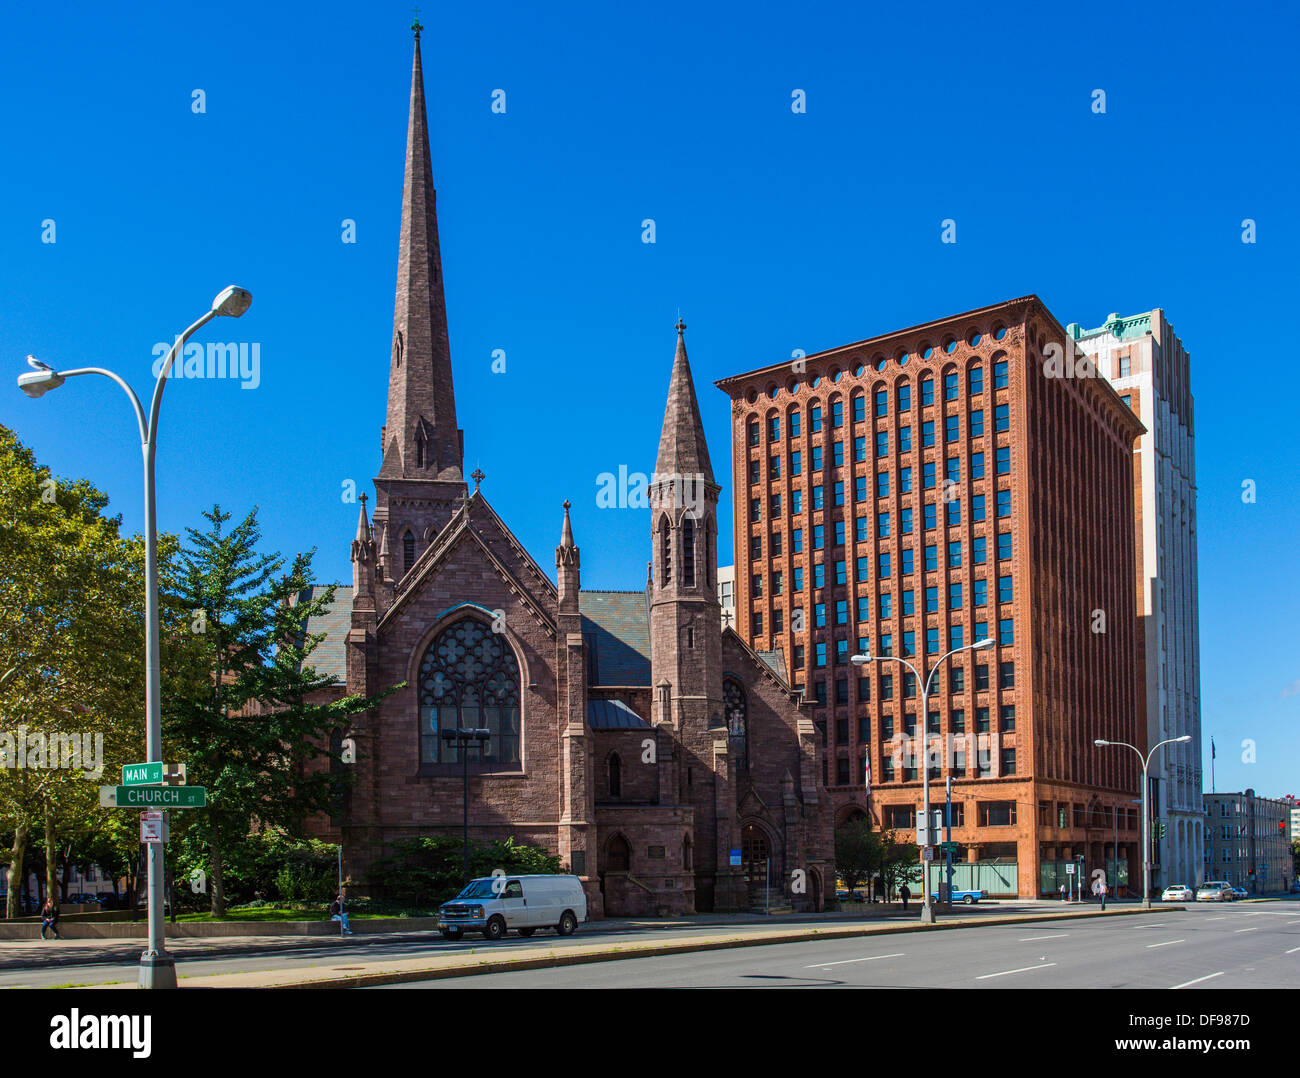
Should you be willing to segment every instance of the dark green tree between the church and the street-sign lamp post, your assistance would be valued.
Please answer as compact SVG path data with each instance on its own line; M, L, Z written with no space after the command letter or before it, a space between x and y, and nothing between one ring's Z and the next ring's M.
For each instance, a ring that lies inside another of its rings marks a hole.
M182 814L182 843L202 847L221 915L233 850L255 827L300 835L308 817L333 806L341 780L329 767L338 758L332 735L378 697L330 700L333 680L311 666L324 637L307 633L307 620L334 602L333 586L311 592L315 551L286 571L278 554L259 553L256 507L233 528L220 506L203 515L205 531L186 529L177 585L202 676L172 701L164 735L190 782L208 788L208 808Z

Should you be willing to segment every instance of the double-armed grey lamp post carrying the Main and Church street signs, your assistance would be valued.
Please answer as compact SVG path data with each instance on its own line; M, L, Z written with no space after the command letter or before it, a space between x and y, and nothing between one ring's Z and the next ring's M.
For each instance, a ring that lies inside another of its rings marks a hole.
M161 705L161 666L159 661L159 567L157 567L157 507L155 502L153 486L153 456L157 450L159 408L162 406L162 388L166 385L168 375L172 373L172 364L185 347L185 342L198 333L212 319L224 316L238 319L248 304L252 295L244 289L230 285L222 289L217 298L212 300L212 307L195 321L188 329L176 338L176 343L168 352L153 384L153 397L150 402L150 412L146 417L140 398L121 377L103 367L78 367L73 371L55 371L35 356L27 356L27 363L34 369L18 376L18 388L31 398L42 397L52 389L61 386L68 378L78 375L103 375L117 382L131 401L135 410L135 421L140 433L140 453L144 458L144 722L146 722L146 759L150 763L162 759L162 705ZM142 988L174 988L176 987L176 960L166 953L162 926L162 845L161 843L148 844L148 912L150 912L150 941L144 953L140 954Z

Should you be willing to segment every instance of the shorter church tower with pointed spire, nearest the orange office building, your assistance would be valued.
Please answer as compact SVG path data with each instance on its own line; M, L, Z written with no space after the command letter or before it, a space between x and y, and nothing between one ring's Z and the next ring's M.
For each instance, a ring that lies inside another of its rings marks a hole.
M677 354L659 455L650 481L651 720L668 726L681 804L694 808L696 906L729 908L719 886L728 876L727 726L723 719L722 610L718 603L718 495L686 359L686 326L677 321ZM660 739L663 743L663 739ZM719 782L719 766L722 782ZM720 830L719 830L720 828Z

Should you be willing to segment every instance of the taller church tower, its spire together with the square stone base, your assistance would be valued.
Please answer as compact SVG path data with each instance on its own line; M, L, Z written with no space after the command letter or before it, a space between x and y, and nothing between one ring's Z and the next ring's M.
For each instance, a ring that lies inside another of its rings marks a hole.
M412 29L415 61L389 356L389 408L380 434L384 462L374 480L374 529L385 589L406 575L467 494L420 66L422 27L416 22Z

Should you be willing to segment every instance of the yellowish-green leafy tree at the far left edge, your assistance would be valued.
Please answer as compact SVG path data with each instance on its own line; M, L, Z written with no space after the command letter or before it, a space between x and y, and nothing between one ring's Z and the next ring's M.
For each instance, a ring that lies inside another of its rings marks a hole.
M27 727L25 740L46 745L0 770L0 821L12 834L10 879L25 878L39 835L49 853L44 891L56 900L68 849L58 835L100 811L101 775L94 759L68 766L66 743L49 753L49 735L101 745L98 762L107 767L134 757L144 732L143 541L124 538L107 506L94 485L56 479L0 427L0 714L8 736ZM162 558L174 546L160 537ZM17 745L3 749L17 754ZM20 893L21 886L9 889L9 917Z

